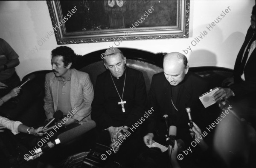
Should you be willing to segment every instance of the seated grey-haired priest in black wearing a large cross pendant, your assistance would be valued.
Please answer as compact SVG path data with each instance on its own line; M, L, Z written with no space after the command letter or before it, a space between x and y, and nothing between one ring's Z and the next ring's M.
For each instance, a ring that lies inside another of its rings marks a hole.
M122 146L116 154L116 157L119 156L116 161L121 163L123 159L128 162L129 157L132 157L132 154L128 155L129 151L135 148L134 144L139 144L137 141L141 141L135 136L136 131L132 132L129 127L144 114L145 81L142 72L125 66L126 58L118 48L109 48L105 54L104 65L107 70L97 77L91 117L99 130L99 139L105 145L113 146L121 130L131 133L120 144Z

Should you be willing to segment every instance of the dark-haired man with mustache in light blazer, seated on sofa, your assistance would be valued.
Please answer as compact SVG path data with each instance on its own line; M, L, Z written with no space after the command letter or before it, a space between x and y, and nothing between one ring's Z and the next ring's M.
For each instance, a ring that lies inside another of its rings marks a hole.
M55 111L65 116L63 124L83 124L91 120L93 85L87 73L72 68L77 55L67 46L52 50L52 72L45 77L44 110L48 120Z

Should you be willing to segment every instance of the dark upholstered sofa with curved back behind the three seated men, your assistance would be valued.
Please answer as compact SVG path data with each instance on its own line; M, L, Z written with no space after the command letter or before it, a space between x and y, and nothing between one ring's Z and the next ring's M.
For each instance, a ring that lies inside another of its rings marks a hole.
M125 57L127 58L127 66L140 70L143 72L143 76L145 78L146 90L147 93L150 88L151 79L153 74L159 73L163 71L163 53L151 53L147 51L142 51L138 49L132 48L119 48ZM100 57L102 53L105 52L104 50L95 51L89 54L86 54L80 57L75 64L75 68L87 72L90 75L90 79L95 85L97 75L101 74L106 70L105 66L103 65L103 60ZM49 63L50 64L50 63ZM189 68L190 71L195 72L199 76L205 78L210 83L210 88L214 88L215 86L220 86L222 80L226 77L232 76L232 70L227 68L219 68L219 67L192 67ZM35 80L33 83L37 84L41 88L41 94L38 97L39 99L39 106L37 113L44 114L43 109L43 97L44 97L44 79L45 74L50 72L50 70L45 71L35 71L31 74L35 74ZM23 77L23 80L30 74L27 74Z

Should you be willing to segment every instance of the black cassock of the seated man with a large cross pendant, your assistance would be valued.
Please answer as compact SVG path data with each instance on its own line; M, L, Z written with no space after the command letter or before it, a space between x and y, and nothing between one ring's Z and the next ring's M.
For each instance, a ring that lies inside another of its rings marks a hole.
M114 77L110 71L99 74L96 80L95 94L92 103L92 120L100 131L98 142L105 145L111 144L107 128L134 125L145 111L146 89L142 72L125 67L121 77ZM132 157L136 153L142 137L140 128L131 133L116 154L119 159ZM113 151L112 151L113 152ZM131 154L129 154L131 153ZM113 155L113 154L111 154ZM122 162L122 161L120 161Z

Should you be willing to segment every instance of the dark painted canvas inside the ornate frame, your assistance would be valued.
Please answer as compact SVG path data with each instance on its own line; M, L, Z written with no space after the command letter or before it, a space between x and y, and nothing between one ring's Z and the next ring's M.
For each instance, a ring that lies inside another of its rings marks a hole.
M60 1L63 16L76 6L65 23L67 32L99 31L177 25L177 0L82 0ZM149 9L151 13L148 12Z

